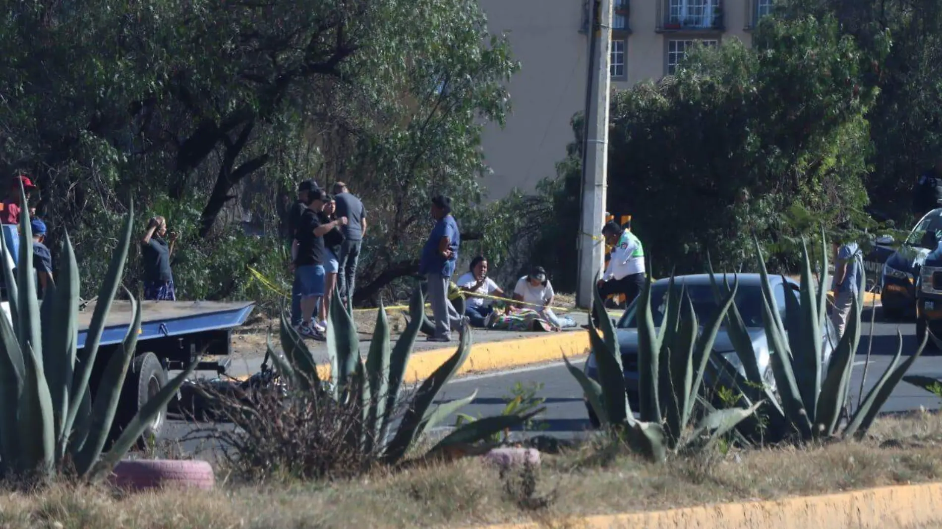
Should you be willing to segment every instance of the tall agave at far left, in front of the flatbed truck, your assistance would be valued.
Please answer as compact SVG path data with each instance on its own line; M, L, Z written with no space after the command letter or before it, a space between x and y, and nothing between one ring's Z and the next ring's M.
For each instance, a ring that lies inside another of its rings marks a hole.
M22 195L22 193L21 193ZM22 196L23 211L28 211ZM33 235L29 216L20 217L19 263L14 277L0 236L0 262L8 292L8 313L0 313L0 478L44 479L73 472L93 479L108 473L134 445L177 392L187 372L147 402L103 455L118 408L124 376L134 356L140 307L131 298L132 319L122 345L107 359L95 397L89 378L108 310L121 284L131 242L133 208L122 228L91 317L85 347L77 350L78 266L68 234L59 282L49 284L40 304L33 280ZM130 293L128 293L130 295ZM130 296L129 296L130 297ZM103 359L104 360L104 359Z

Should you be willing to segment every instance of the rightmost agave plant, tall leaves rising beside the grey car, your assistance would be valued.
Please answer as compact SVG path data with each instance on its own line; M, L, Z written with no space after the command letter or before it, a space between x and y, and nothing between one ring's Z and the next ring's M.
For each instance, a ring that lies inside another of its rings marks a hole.
M720 355L712 355L707 371L717 377L720 384L739 393L740 405L753 406L753 403L760 400L768 404L762 408L762 413L769 419L764 435L767 438L771 436L772 441L796 436L801 441L809 441L864 435L890 393L922 354L925 340L919 345L916 353L901 363L902 336L899 336L899 348L893 361L877 384L870 389L861 406L854 410L848 424L841 429L841 414L849 408L850 402L853 356L860 343L861 297L853 299L847 329L837 342L831 361L825 368L821 361L821 347L827 336L828 325L826 303L829 277L826 241L823 242L821 251L822 272L817 286L811 271L808 249L803 242L799 299L786 296L784 322L773 305L769 273L758 241L755 241L755 248L762 277L763 320L769 338L771 370L777 395L773 395L768 386L763 384L763 378L755 365L755 352L748 333L736 313L731 313L726 323L731 342L743 365L743 372L739 373ZM722 288L717 287L717 296L721 294ZM743 433L755 435L755 432Z

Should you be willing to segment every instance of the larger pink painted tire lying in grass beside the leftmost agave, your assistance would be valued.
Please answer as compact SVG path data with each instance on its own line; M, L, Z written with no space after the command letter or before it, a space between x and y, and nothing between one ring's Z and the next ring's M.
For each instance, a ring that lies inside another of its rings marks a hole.
M110 482L121 489L168 488L212 489L216 484L213 467L197 459L124 459L118 463Z

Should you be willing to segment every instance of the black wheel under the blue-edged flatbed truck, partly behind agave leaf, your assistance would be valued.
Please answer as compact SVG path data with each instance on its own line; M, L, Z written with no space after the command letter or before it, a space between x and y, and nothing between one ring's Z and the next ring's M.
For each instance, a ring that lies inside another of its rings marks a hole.
M121 401L116 414L116 426L121 431L138 414L138 411L157 392L167 385L167 371L157 360L154 353L141 353L131 361L131 369L124 377ZM154 421L144 429L138 441L139 447L146 447L153 438L160 439L160 432L167 422L167 409L161 409Z

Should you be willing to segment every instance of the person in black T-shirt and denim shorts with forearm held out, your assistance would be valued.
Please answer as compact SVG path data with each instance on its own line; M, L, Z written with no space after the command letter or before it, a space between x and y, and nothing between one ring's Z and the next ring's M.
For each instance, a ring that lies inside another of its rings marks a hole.
M326 196L323 191L308 191L307 208L301 214L295 231L297 253L295 257L295 281L300 287L301 323L298 332L302 336L323 339L327 319L327 304L321 303L319 320L312 321L317 301L324 296L324 234L338 226L347 224L347 217L321 223L319 214L324 209Z

